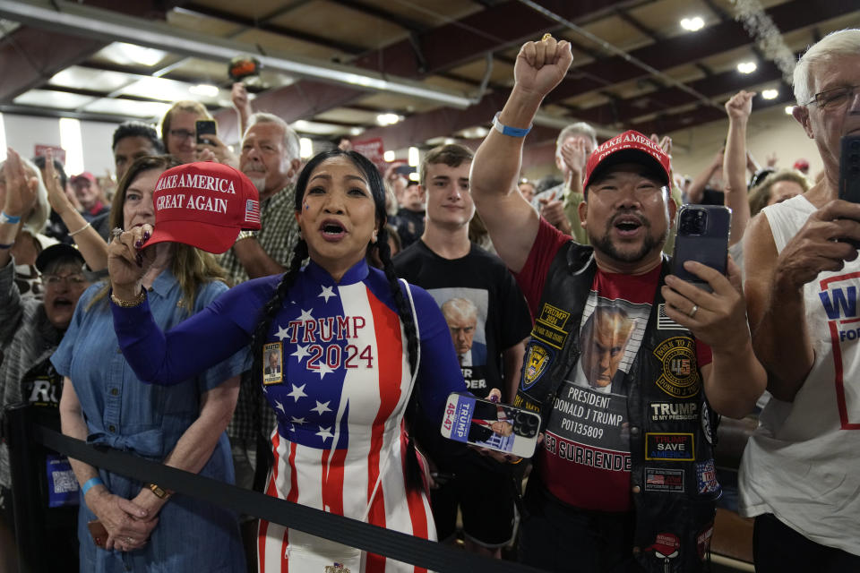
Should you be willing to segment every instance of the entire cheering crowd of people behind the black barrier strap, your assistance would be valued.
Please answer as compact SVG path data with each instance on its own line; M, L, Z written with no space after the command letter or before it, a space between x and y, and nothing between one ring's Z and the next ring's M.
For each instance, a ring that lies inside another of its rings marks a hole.
M737 479L756 569L860 570L860 206L839 200L860 30L796 64L814 179L805 159L756 163L742 90L700 174L673 170L668 137L601 143L576 123L560 177L524 180L530 126L571 63L566 41L525 43L477 151L426 151L417 182L348 140L303 162L239 83L238 153L177 102L160 134L117 127L112 193L9 150L0 406L469 552L606 573L704 570L720 418L757 414ZM732 212L726 273L684 263L708 288L672 270L685 204ZM541 415L534 458L443 438L454 392ZM47 449L30 459L52 570L417 570ZM0 445L10 570L12 487Z

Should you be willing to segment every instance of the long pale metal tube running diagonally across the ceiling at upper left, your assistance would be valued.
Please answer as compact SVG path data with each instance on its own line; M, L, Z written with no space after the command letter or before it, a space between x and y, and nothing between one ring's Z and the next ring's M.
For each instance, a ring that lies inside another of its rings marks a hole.
M138 46L169 46L171 53L180 56L228 62L236 54L254 54L260 64L270 70L426 99L460 109L475 103L460 91L427 86L421 81L383 75L370 70L358 73L355 66L296 56L287 52L279 53L276 50L270 50L263 55L258 47L248 42L182 30L167 23L146 21L76 2L54 0L51 4L41 5L8 0L0 3L0 16L42 30L60 31L82 38L117 42L134 38Z

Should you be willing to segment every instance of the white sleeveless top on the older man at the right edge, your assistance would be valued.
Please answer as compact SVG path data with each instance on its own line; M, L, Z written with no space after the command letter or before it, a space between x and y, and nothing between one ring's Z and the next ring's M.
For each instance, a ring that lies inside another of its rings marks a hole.
M777 251L815 207L766 208ZM860 555L860 261L804 286L815 362L793 402L771 398L740 468L740 511L773 513L816 543ZM778 310L778 309L777 309Z

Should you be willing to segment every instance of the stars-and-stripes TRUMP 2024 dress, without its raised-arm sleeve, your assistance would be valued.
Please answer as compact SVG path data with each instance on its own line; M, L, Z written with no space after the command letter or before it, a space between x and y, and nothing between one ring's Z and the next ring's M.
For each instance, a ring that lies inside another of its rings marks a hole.
M441 421L447 395L465 388L451 336L425 291L401 287L417 317L417 386ZM383 273L362 261L336 284L312 262L289 298L263 350L264 359L280 355L283 372L263 376L263 392L278 416L266 492L434 539L426 495L404 478L403 415L413 376ZM335 563L352 573L424 570L266 521L257 552L261 573L320 573Z

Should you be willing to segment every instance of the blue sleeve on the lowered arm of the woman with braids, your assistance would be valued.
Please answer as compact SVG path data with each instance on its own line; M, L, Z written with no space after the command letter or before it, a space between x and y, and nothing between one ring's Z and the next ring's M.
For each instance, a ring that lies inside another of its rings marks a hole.
M439 306L426 290L409 285L415 302L418 335L421 340L421 363L417 386L421 406L434 423L442 423L445 403L452 392L465 392L466 382L460 371L451 331Z

